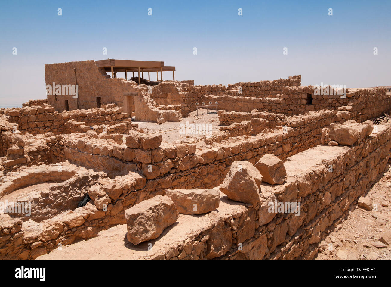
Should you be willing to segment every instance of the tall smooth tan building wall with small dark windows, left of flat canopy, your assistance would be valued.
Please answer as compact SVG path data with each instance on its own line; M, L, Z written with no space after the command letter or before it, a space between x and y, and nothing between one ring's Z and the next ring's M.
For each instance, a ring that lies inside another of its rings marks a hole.
M76 69L76 73L74 71ZM106 73L95 64L95 61L79 61L45 65L46 85L79 85L79 97L48 95L48 103L62 112L66 109L65 100L68 100L70 110L88 109L97 107L97 97L101 104L115 103L127 110L129 103L124 93L139 92L140 88L133 81L122 78L106 78ZM130 101L133 103L133 101Z

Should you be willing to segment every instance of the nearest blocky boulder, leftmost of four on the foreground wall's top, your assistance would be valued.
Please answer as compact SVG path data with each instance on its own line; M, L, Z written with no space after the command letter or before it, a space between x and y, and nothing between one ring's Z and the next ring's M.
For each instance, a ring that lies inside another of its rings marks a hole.
M144 200L125 211L127 240L137 245L158 238L178 217L178 210L170 197L156 195Z

